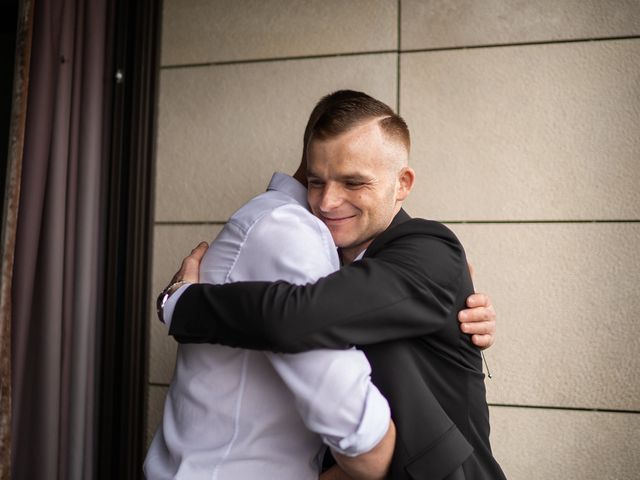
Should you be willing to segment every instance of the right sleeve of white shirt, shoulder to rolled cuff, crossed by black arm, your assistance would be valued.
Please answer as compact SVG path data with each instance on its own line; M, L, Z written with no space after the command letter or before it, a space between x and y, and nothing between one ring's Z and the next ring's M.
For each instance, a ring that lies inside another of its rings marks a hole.
M324 225L302 207L283 206L251 227L230 279L313 282L338 267L334 249ZM385 435L389 405L371 383L371 368L361 351L265 352L265 356L293 394L306 427L332 449L359 455Z

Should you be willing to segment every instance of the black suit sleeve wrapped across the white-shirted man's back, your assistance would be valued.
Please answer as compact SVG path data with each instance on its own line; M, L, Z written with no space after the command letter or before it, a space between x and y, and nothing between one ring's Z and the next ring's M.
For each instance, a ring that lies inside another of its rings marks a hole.
M411 220L372 256L314 284L196 284L176 305L170 334L183 343L300 352L419 337L450 328L470 285L462 246L446 227ZM457 325L455 325L457 327Z

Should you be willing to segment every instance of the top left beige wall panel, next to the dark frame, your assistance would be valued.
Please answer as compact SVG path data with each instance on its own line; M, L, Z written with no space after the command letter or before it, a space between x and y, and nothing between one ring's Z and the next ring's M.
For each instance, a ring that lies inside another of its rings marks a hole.
M162 64L395 50L389 0L166 0Z

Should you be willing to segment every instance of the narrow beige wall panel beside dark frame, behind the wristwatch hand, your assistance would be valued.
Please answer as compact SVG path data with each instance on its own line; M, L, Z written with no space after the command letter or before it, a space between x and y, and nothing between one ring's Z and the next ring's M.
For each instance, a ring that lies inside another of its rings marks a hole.
M220 225L156 225L153 246L152 316L149 321L151 347L149 382L168 384L173 376L177 343L155 314L156 295L180 268L182 259L201 241L211 243Z

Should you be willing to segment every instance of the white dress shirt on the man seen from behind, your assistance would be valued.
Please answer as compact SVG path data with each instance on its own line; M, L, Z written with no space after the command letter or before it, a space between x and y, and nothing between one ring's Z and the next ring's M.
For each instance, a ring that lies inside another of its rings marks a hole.
M304 284L339 268L306 189L274 174L207 251L200 279ZM170 319L182 287L165 305ZM303 320L301 320L303 321ZM387 401L358 350L285 355L209 344L178 347L162 424L145 461L151 479L317 479L322 442L355 456L387 431Z

